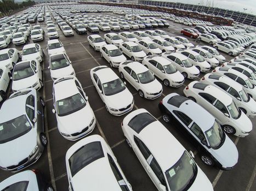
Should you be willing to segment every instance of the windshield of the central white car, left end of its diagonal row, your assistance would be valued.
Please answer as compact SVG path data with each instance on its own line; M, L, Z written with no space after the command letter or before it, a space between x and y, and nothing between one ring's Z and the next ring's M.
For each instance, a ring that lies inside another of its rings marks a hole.
M118 78L116 80L103 83L103 89L105 96L112 96L113 94L122 92L126 89L126 86L124 86L123 82Z

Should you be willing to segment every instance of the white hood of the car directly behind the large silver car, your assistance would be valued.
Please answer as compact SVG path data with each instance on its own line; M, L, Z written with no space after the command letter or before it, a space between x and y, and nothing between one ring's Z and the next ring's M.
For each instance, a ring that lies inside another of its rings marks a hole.
M28 87L31 87L37 81L38 80L37 80L36 74L21 80L13 80L12 89L13 91L18 91L20 89L28 88Z

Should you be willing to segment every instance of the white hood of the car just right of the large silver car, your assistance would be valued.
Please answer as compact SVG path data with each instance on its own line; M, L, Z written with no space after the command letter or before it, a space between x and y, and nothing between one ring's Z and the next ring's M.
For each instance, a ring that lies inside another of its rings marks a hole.
M93 117L93 111L88 103L84 108L73 112L73 114L62 117L56 115L58 129L60 132L65 134L81 132L84 128L89 126Z

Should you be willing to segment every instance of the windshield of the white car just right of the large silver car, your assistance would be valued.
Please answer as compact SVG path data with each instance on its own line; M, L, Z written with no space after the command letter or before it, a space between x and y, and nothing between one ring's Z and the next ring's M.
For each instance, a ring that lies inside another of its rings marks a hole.
M84 106L86 106L86 102L82 98L81 94L77 93L71 97L59 100L56 105L58 115L66 116L84 108Z

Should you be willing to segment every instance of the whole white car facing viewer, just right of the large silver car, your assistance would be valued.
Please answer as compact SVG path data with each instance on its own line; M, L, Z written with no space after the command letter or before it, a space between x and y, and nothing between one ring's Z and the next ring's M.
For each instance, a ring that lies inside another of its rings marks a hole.
M96 118L75 76L65 75L54 80L53 103L57 127L65 139L75 141L93 131Z

